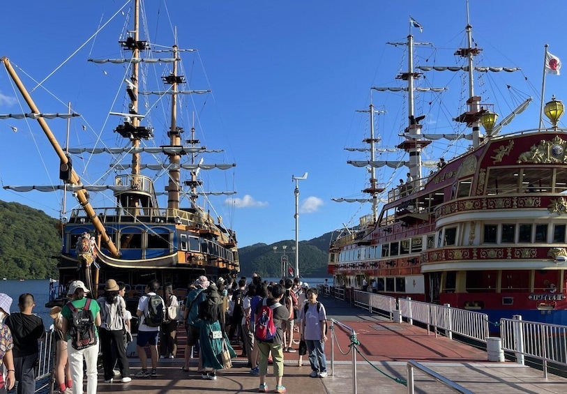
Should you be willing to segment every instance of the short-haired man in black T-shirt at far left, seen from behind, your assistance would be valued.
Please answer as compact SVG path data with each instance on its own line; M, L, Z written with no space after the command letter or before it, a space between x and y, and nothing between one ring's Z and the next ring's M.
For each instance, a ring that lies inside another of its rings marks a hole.
M36 362L38 361L38 340L45 337L43 320L33 314L36 306L33 295L24 293L18 298L15 312L6 317L6 326L12 331L14 343L13 358L17 394L33 394L36 391Z

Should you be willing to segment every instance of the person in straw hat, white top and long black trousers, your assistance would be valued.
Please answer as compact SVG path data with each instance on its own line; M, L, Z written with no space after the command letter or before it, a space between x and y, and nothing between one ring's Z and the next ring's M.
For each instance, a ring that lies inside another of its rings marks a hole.
M130 364L124 347L124 316L126 315L126 301L120 296L120 287L116 280L109 279L105 283L105 294L98 298L100 305L100 347L103 351L103 370L105 383L114 381L114 365L118 367L122 376L122 383L132 381L130 377Z

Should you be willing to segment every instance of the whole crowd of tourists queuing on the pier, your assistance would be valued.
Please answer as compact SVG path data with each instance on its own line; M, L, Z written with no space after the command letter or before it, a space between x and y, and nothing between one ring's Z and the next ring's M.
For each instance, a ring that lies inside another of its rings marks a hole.
M216 380L218 370L232 367L235 343L242 344L241 356L248 358L250 374L259 377L260 393L268 391L269 363L273 364L275 393L285 393L285 353L299 351L299 365L309 354L310 377L327 376L326 311L317 301L317 289L298 278L267 283L254 274L250 283L245 277L212 282L202 275L190 284L183 302L170 283L163 285L162 295L159 290L160 283L151 280L137 303L135 340L141 368L130 374L126 351L133 335L132 315L124 298L126 285L109 279L104 294L93 299L84 282L70 282L68 302L50 310L56 340L56 391L82 394L86 374L86 393L95 394L99 352L105 383L157 376L159 359L176 356L180 323L187 332L182 369L188 372L190 358L198 354L197 371L202 379ZM16 381L18 394L31 394L36 388L38 340L44 339L45 327L33 314L32 294L20 296L20 312L10 314L11 305L12 298L0 293L0 365L6 369L4 377L0 374L0 394L10 391ZM298 349L294 349L294 336L299 340Z

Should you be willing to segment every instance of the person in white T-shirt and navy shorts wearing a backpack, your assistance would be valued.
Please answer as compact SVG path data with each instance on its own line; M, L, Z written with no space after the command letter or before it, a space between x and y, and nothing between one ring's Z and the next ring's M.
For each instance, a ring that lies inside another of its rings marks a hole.
M145 289L146 294L140 297L138 301L136 316L139 317L139 327L138 327L138 336L136 340L136 350L138 353L139 363L142 369L136 372L136 374L134 375L135 377L158 376L158 336L160 334L160 324L158 324L158 326L154 326L156 322L152 322L151 323L152 325L149 326L148 324L150 323L150 321L146 321L146 319L149 319L149 308L151 308L150 305L151 298L158 296L157 291L159 289L160 289L160 282L158 282L155 279L150 280L150 282L146 285L146 289ZM161 303L162 303L162 317L163 317L163 310L165 309L163 299L161 300ZM148 372L148 368L146 364L147 356L146 356L146 349L144 349L146 344L149 344L150 347L151 372Z

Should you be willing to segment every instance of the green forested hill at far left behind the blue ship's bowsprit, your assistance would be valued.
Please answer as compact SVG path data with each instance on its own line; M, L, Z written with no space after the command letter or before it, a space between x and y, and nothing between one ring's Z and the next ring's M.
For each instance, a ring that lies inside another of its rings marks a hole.
M58 223L38 209L0 201L0 278L57 278Z

